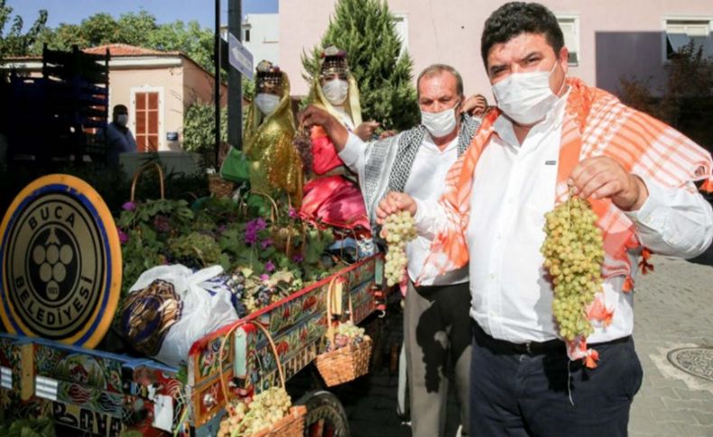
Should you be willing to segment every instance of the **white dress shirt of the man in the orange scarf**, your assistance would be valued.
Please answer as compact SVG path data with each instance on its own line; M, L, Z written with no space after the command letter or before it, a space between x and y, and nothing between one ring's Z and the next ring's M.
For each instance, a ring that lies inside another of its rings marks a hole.
M500 116L495 133L477 162L468 226L471 316L491 336L515 343L559 337L552 316L552 287L540 253L544 214L554 208L561 126L566 96L522 144L512 123ZM713 240L713 212L698 193L662 187L644 179L649 197L626 213L642 244L654 253L690 258ZM695 190L694 190L695 191ZM440 205L417 199L419 232L443 229ZM636 269L637 253L630 253ZM632 273L634 275L634 272ZM607 327L597 326L588 342L611 341L634 329L633 293L625 278L604 281L604 304L614 310ZM645 293L645 290L643 291Z

